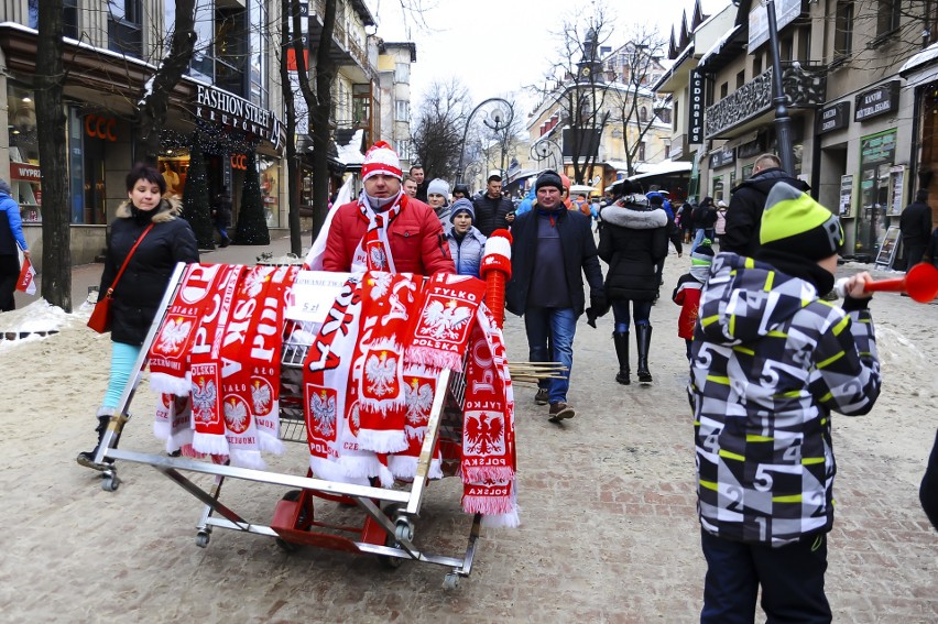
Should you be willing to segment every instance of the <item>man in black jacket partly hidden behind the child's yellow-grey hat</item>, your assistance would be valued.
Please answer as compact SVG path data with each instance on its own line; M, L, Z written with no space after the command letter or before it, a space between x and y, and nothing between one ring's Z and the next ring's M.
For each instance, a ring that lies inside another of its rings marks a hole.
M809 190L804 182L792 177L782 168L775 154L762 154L752 167L752 177L733 188L727 209L727 233L720 237L720 251L732 251L750 258L759 250L759 228L765 198L778 182L800 190Z

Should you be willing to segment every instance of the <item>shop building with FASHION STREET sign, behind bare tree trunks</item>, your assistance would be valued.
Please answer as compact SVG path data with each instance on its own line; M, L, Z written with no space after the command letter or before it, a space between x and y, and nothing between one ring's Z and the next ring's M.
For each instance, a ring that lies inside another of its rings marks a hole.
M124 176L141 160L137 143L137 105L154 75L173 32L173 0L66 0L66 79L68 177L73 263L94 262L106 245L107 225L127 199ZM378 45L373 17L362 0L337 0L331 56L334 81L331 130L361 136L363 150L382 138ZM167 191L182 196L189 150L198 138L206 154L209 193L230 190L236 215L247 155L254 151L268 226L287 227L284 129L285 98L280 50L285 41L281 3L270 0L198 0L197 42L189 68L173 88L159 166ZM302 37L309 64L321 43L325 0L302 4ZM7 177L21 205L25 234L35 261L42 258L42 163L33 92L37 0L0 1L0 176ZM288 36L288 35L287 35ZM290 54L292 55L292 50ZM292 63L291 63L292 61ZM309 125L299 97L296 58L287 56L286 97L299 103L296 141L301 154L299 205L312 197ZM315 76L315 67L309 68ZM315 89L315 81L313 81ZM343 163L330 154L341 183ZM334 189L330 189L334 190ZM236 217L237 218L237 217Z

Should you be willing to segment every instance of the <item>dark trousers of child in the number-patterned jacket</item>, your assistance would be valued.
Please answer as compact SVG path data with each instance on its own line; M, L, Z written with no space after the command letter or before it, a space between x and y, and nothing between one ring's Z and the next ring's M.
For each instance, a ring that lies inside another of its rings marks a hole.
M753 624L760 585L766 624L831 622L824 593L827 535L773 548L700 534L707 558L701 624Z

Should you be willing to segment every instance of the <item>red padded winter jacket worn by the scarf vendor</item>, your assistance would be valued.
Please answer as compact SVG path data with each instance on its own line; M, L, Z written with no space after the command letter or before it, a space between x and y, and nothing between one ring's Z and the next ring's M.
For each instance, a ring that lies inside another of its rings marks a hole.
M352 256L367 231L368 219L357 201L339 206L326 239L323 270L351 271ZM443 226L423 201L406 195L401 198L401 212L388 225L388 239L399 273L456 273Z

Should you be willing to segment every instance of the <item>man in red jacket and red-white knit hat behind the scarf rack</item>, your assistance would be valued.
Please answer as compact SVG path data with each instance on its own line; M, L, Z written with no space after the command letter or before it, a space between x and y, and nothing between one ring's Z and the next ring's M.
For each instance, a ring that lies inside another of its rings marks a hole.
M379 141L361 167L364 190L339 206L323 258L324 271L455 273L449 243L433 209L401 190L401 162Z

